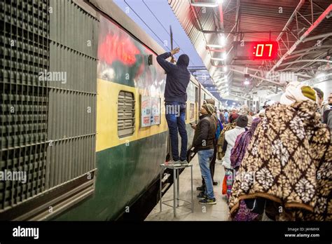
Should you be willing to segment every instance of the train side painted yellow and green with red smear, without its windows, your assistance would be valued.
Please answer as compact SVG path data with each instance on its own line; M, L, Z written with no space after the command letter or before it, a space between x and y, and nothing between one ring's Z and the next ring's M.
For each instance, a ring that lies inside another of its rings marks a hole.
M153 55L153 65L148 65L148 55ZM165 72L156 62L156 55L118 25L101 17L98 59L95 194L57 220L115 219L158 177L159 164L166 158ZM134 100L134 130L121 137L118 103L123 92ZM160 124L141 126L142 96L160 100ZM189 120L188 117L187 123ZM191 130L189 125L187 130ZM191 142L191 131L188 134Z

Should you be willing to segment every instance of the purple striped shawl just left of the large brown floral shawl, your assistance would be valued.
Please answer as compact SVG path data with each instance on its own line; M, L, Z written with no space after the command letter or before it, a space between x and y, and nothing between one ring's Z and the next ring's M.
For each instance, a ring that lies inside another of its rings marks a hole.
M235 145L232 151L230 151L230 162L232 168L234 168L235 170L240 167L244 154L247 151L249 142L251 141L251 137L254 135L258 123L260 123L261 120L261 118L255 118L254 121L251 123L250 129L237 136Z

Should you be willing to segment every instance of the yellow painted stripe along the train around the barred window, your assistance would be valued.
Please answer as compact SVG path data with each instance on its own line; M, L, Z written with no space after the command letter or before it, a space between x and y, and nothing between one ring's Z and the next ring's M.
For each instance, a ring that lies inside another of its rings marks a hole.
M121 90L134 94L135 99L135 128L134 133L130 136L119 138L118 137L118 95ZM126 142L132 142L144 137L150 137L158 133L163 133L168 130L167 121L165 118L165 106L162 95L158 95L162 102L160 105L161 118L160 125L149 126L140 128L141 111L139 104L139 95L146 94L147 89L134 88L132 86L125 86L123 84L114 83L111 81L105 81L97 79L97 142L96 151L102 151L110 147L116 147L119 144L125 144ZM186 123L195 121L197 119L197 104L195 104L195 118L189 118L189 104L194 103L188 101L186 106Z

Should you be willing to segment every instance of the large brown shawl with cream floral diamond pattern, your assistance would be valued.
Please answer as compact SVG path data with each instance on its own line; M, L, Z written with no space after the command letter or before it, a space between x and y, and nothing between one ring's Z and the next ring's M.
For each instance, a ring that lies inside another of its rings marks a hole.
M235 177L230 215L241 199L263 197L295 219L331 220L330 131L316 109L302 101L265 111Z

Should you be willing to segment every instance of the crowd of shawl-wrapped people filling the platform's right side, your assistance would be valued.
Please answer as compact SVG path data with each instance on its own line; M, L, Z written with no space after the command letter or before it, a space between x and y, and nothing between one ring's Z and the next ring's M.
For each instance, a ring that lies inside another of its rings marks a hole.
M291 82L247 119L246 106L232 111L217 153L230 219L332 220L331 106L332 93L326 104L319 88Z

